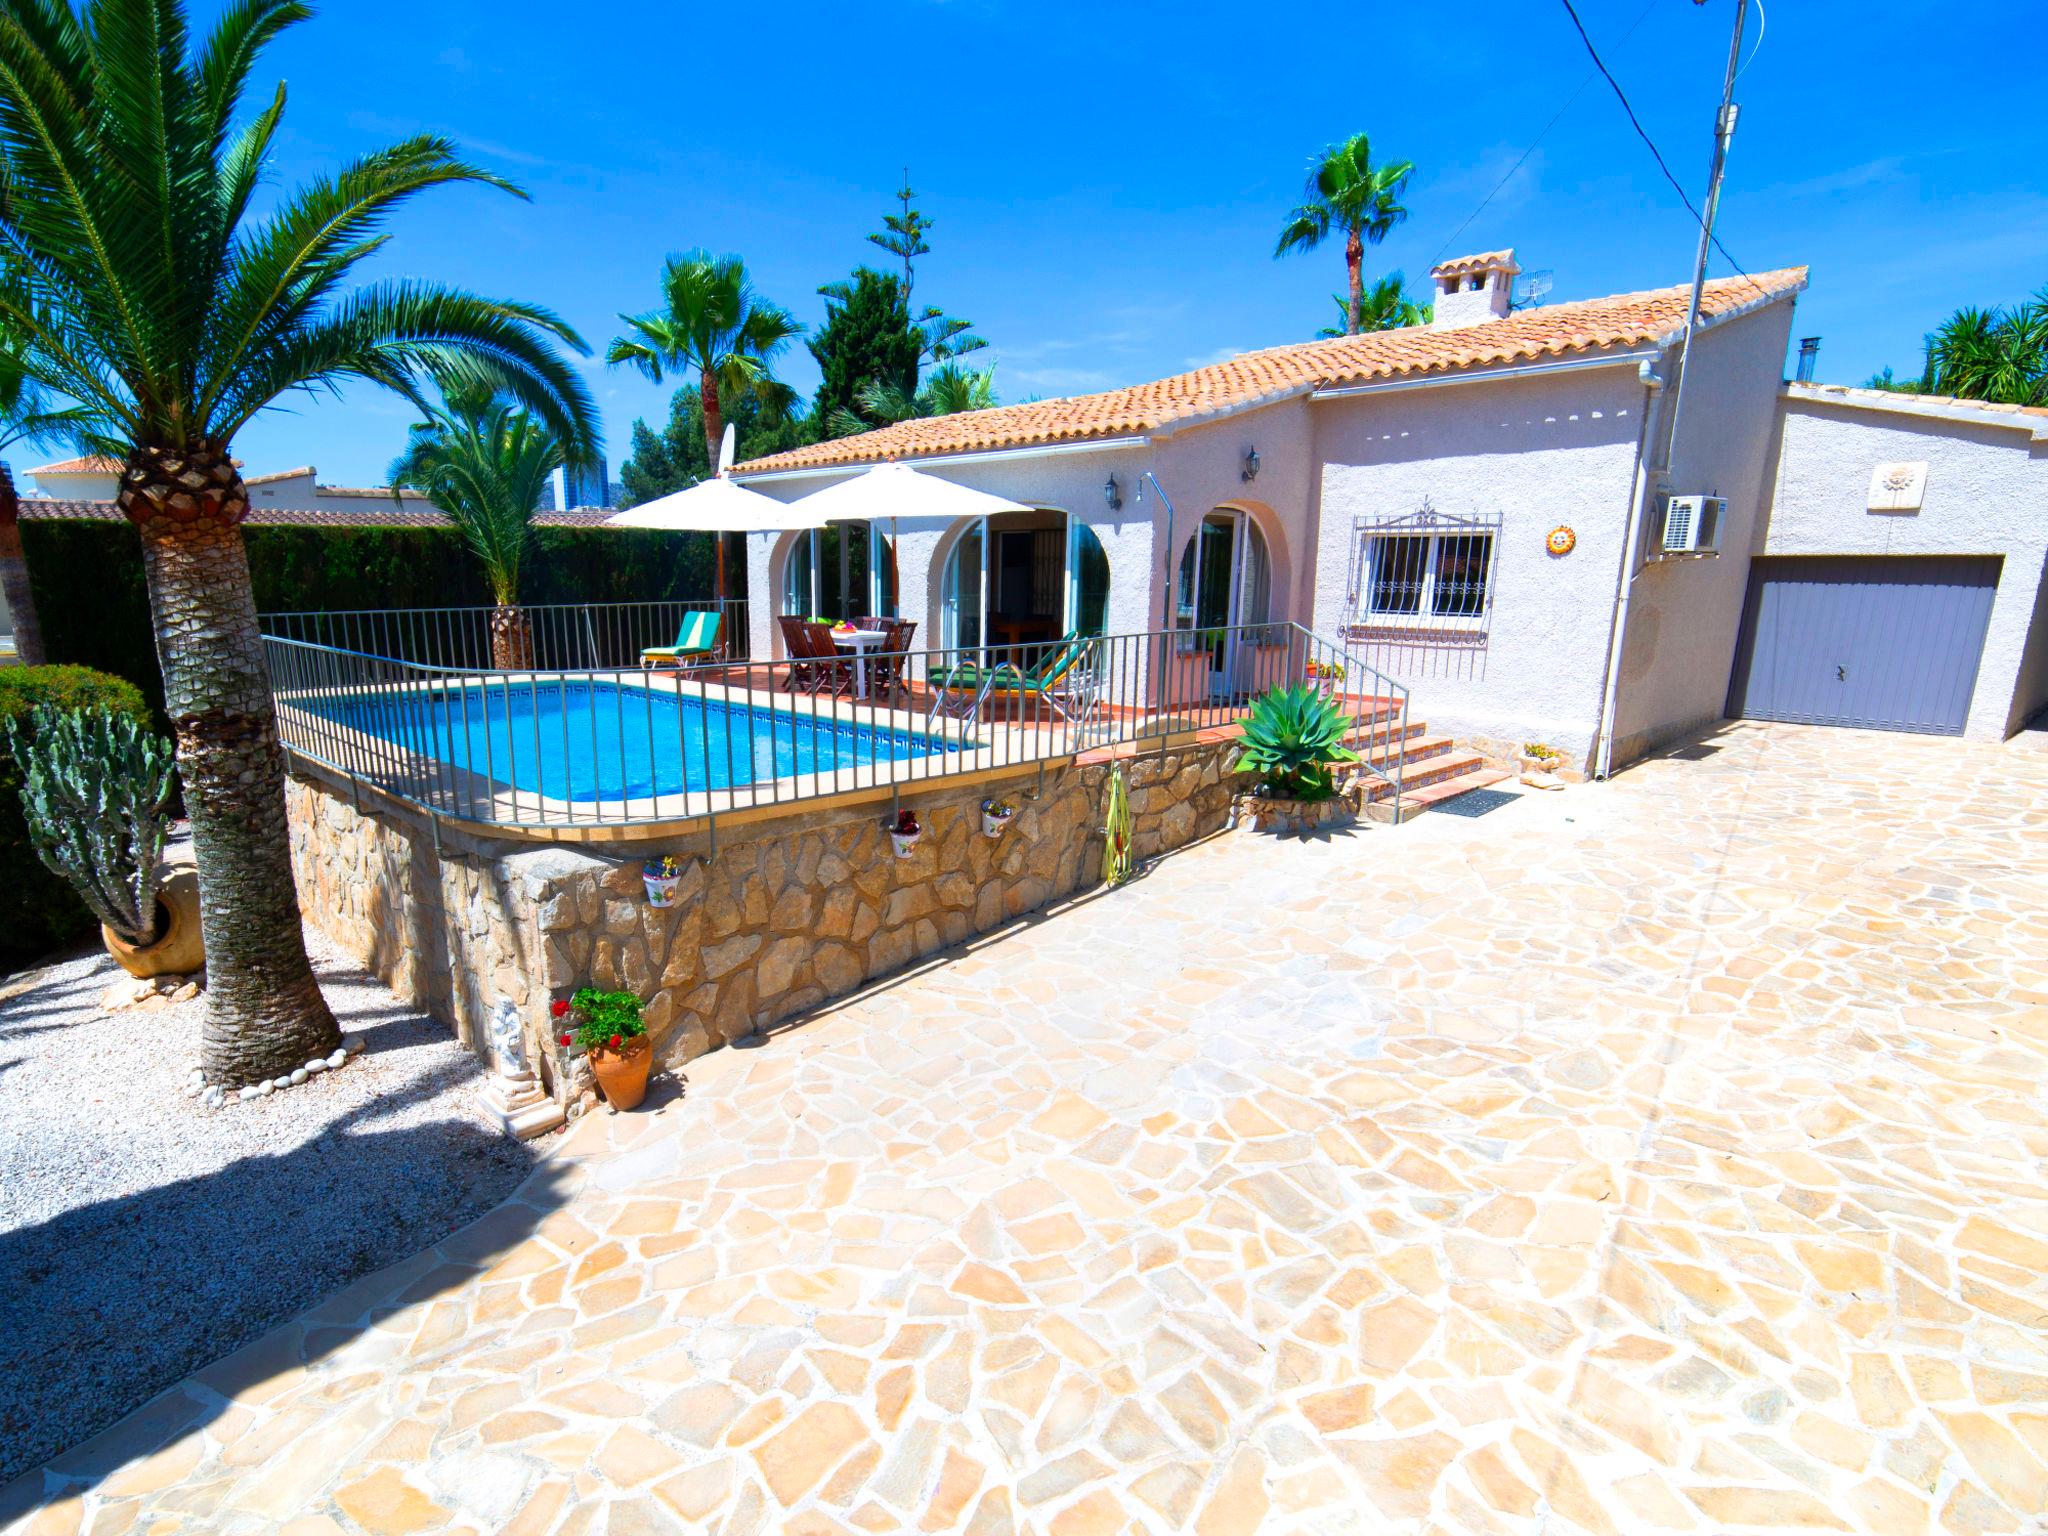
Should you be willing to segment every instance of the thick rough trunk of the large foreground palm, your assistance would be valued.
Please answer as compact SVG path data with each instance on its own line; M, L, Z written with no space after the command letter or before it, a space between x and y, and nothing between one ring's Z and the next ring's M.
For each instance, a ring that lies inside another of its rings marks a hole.
M199 856L201 1063L209 1081L256 1083L328 1055L340 1028L305 958L291 879L285 752L242 547L248 492L223 449L135 449L119 500L141 532Z

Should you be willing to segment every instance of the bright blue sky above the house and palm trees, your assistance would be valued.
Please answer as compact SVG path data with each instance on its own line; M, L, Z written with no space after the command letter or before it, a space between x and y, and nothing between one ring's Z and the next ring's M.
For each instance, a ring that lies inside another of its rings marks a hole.
M1733 0L1579 12L1698 199ZM1913 369L1956 305L2048 283L2048 29L2015 18L1991 37L1954 16L1767 0L1720 236L1749 270L1812 266L1796 332L1825 338L1823 379ZM918 295L995 344L1001 399L1313 336L1341 252L1276 262L1272 242L1309 154L1352 131L1419 168L1411 219L1368 272L1427 287L1432 260L1511 244L1554 272L1552 299L1683 281L1696 225L1589 70L1559 0L330 0L264 59L291 90L281 184L401 133L455 135L532 201L430 195L399 215L381 270L547 303L596 354L688 246L743 254L817 324L819 283L885 260L862 236L909 164L938 221ZM586 367L616 475L633 418L664 418L668 387ZM817 377L801 344L782 373L805 391ZM408 418L369 389L305 399L252 424L240 455L377 483Z

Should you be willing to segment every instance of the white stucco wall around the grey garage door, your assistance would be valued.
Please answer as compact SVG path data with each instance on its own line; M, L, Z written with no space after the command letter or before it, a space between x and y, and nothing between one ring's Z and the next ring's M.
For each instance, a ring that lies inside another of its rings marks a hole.
M2011 422L2019 422L2013 426ZM1997 741L2048 702L2042 571L2048 565L2048 430L2042 418L1886 410L1780 397L1763 555L2001 555L1964 735ZM1870 471L1925 461L1919 512L1870 512Z

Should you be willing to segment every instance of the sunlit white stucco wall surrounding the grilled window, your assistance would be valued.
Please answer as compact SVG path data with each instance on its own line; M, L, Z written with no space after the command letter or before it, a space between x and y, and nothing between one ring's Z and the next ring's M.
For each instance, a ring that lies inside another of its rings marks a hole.
M1614 580L1634 485L1645 385L1636 365L1352 395L1311 406L1321 473L1315 627L1350 612L1356 516L1499 514L1485 647L1356 645L1411 688L1432 731L1571 758L1599 715ZM1544 547L1569 526L1569 555Z

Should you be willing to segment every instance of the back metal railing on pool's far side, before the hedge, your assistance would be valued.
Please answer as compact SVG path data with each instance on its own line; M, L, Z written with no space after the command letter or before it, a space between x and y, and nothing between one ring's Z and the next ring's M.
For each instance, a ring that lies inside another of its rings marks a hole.
M496 608L340 608L334 612L270 612L268 639L305 641L360 651L387 662L432 668L489 668ZM674 645L692 612L719 614L719 655L748 659L745 598L664 598L657 602L526 602L518 606L530 651L528 666L627 668L655 645Z

